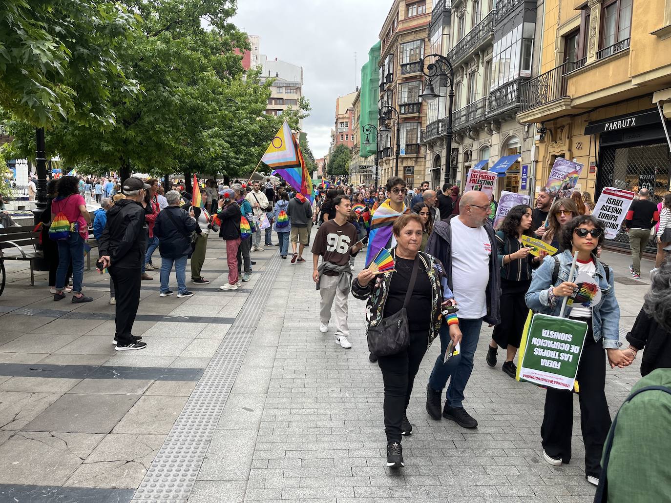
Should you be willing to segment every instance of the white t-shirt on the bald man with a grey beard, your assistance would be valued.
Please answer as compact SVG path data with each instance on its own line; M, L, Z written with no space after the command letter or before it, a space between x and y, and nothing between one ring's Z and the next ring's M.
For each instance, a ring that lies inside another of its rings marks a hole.
M468 227L459 217L452 225L452 292L458 317L482 318L487 314L486 290L492 243L484 227Z

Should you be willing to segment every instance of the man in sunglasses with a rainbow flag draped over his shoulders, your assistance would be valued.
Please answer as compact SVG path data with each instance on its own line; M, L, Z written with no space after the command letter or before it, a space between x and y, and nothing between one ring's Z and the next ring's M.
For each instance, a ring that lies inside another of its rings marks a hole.
M391 176L389 180L386 180L386 192L388 195L386 201L373 211L370 219L366 268L380 249L394 247L396 241L391 228L397 218L410 211L403 203L403 199L405 199L405 180L403 178Z

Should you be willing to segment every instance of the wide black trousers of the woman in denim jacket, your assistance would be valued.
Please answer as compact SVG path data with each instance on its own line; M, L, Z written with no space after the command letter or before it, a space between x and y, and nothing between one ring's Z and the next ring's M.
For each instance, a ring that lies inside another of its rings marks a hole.
M609 429L611 414L604 387L606 384L605 349L601 340L595 342L592 321L589 321L580 364L578 364L580 429L585 446L585 474L601 476L601 453ZM552 457L561 457L564 463L571 459L573 431L573 392L548 388L545 415L541 425L543 448Z

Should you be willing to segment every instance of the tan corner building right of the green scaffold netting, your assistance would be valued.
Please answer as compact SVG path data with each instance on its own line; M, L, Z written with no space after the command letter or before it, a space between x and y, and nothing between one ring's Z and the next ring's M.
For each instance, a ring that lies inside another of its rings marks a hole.
M426 124L426 107L419 99L423 89L420 62L427 49L430 21L431 0L395 0L380 30L378 108L391 106L397 112L386 111L376 124L381 132L380 184L398 174L413 188L425 176L419 143Z

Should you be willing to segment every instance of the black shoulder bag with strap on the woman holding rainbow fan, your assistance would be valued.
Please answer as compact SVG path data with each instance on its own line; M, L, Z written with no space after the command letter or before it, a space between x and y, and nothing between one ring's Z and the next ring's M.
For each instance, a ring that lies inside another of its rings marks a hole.
M368 351L376 356L389 356L400 353L410 345L410 331L408 328L408 316L406 306L415 288L417 270L419 269L419 257L415 257L413 272L410 276L408 291L405 294L403 307L398 313L382 318L375 327L368 327Z

